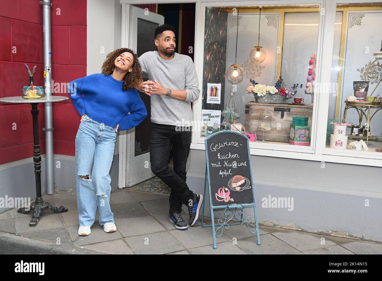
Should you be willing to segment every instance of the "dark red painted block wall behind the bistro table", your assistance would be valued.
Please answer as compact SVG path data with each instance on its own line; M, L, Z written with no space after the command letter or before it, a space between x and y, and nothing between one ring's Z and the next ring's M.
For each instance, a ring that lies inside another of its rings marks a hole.
M86 76L86 0L52 0L52 79L68 83ZM37 65L33 80L44 82L42 7L39 0L0 0L0 97L21 96L29 84L28 70ZM16 47L16 53L12 49ZM53 93L68 96L66 93ZM33 156L32 106L0 103L0 164ZM44 105L39 109L41 154L45 153ZM74 156L80 117L70 99L53 104L55 154ZM13 130L16 124L16 130Z

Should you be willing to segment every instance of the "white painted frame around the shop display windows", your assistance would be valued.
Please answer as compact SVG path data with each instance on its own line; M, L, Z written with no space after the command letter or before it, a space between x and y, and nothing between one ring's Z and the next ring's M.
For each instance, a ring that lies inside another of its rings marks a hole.
M317 44L317 65L316 73L319 83L330 83L334 26L336 6L340 3L362 3L364 0L243 0L235 1L200 1L200 0L162 0L162 1L141 1L120 0L121 4L155 4L155 3L196 3L195 11L195 44L194 44L194 65L199 79L199 87L203 85L203 63L204 63L204 19L207 6L259 6L259 5L306 5L318 4L320 10L324 8L325 15L320 13L320 23ZM382 0L369 0L367 3L378 3ZM365 166L382 167L382 153L362 151L351 151L350 149L338 150L325 148L326 125L329 112L329 94L316 93L316 102L313 105L312 126L311 126L311 146L291 146L288 144L276 143L250 143L251 155L271 156L280 158L302 159L320 162L335 162L343 164L356 164ZM202 115L202 93L199 99L193 102L193 120L196 124L201 121ZM324 120L318 122L318 120ZM205 150L204 137L200 136L200 131L193 130L191 149Z

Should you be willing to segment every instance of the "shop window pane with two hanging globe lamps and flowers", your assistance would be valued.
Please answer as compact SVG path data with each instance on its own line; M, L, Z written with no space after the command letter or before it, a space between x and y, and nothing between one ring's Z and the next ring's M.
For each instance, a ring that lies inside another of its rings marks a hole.
M219 131L225 119L257 134L252 147L311 147L320 6L206 7L205 15L199 136ZM227 73L231 65L240 66L236 73ZM272 121L260 120L264 111Z

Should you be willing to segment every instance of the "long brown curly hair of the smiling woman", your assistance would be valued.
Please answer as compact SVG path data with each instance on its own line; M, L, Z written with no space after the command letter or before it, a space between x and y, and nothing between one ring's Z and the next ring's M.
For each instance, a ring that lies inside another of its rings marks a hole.
M128 48L119 48L107 54L104 63L102 64L101 73L105 76L112 74L115 68L114 61L115 59L122 53L129 52L133 55L134 63L133 70L131 72L126 73L125 77L123 77L123 91L128 91L129 88L138 87L139 84L143 82L142 80L142 70L141 65L138 62L138 56Z

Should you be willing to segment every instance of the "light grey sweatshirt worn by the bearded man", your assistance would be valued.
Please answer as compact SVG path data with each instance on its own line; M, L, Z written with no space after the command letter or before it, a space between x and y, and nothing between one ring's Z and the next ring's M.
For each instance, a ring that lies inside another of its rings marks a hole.
M192 59L188 55L174 53L171 60L164 60L158 51L142 54L138 58L148 80L157 80L164 88L186 90L185 101L166 95L152 94L151 122L175 126L192 125L191 102L199 98L199 82ZM185 123L187 122L187 123Z

